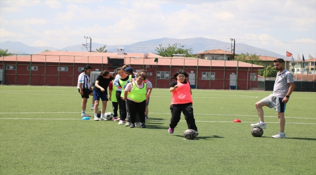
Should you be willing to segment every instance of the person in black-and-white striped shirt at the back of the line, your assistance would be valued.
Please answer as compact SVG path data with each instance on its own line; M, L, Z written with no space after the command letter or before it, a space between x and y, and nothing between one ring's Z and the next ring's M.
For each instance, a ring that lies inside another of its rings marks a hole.
M91 117L86 113L86 108L87 108L87 102L89 95L93 96L93 90L90 87L90 73L92 71L92 67L87 65L84 67L82 70L82 73L80 73L78 77L78 91L81 95L82 98L82 103L81 103L81 117ZM91 105L91 110L94 108L94 100L92 99L92 105Z

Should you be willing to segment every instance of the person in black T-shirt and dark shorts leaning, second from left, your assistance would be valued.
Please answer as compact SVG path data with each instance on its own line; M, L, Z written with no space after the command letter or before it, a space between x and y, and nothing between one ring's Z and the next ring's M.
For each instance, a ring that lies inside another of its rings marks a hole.
M98 75L97 80L95 81L93 88L93 99L94 99L94 120L99 121L98 119L98 106L100 98L102 100L102 110L101 110L101 120L107 121L104 117L107 98L107 87L114 78L110 76L110 72L103 70L100 75Z

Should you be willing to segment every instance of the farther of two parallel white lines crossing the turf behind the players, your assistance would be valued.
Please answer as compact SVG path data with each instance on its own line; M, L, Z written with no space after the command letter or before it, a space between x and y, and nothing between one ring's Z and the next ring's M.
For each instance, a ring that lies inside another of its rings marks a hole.
M0 112L0 114L74 114L80 112ZM170 113L158 113L158 112L149 112L149 114L170 114ZM245 116L245 117L258 117L257 115L238 115L238 114L194 114L194 115L217 115L217 116ZM264 116L264 117L274 117L277 116ZM285 118L293 118L293 119L313 119L316 118L304 118L304 117L285 117Z

